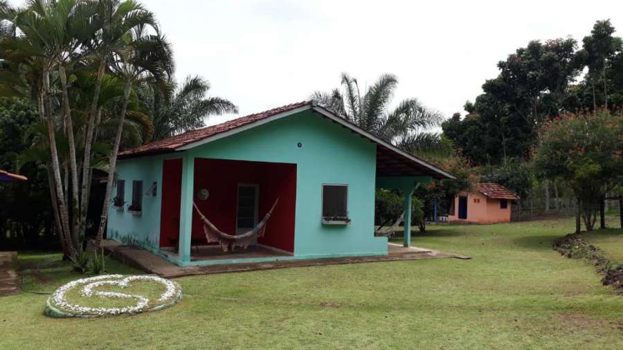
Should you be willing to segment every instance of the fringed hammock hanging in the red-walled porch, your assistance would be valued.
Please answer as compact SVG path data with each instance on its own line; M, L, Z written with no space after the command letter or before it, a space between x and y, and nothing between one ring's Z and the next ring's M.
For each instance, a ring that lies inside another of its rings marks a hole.
M246 249L256 237L264 237L264 232L266 231L266 223L268 219L270 219L271 214L273 214L273 210L275 209L278 201L279 199L275 201L275 203L271 207L271 210L269 210L266 215L264 215L264 219L262 219L262 221L260 221L258 225L255 225L255 228L253 228L253 230L244 232L242 234L227 234L225 232L222 232L213 223L211 223L210 220L208 220L208 218L206 218L203 213L201 213L201 210L197 208L197 204L195 204L195 202L192 202L192 205L199 213L201 221L204 221L204 232L206 232L206 239L208 240L208 243L219 243L221 249L224 252L227 252L230 249L233 252L234 248L236 247L242 247L243 249Z

